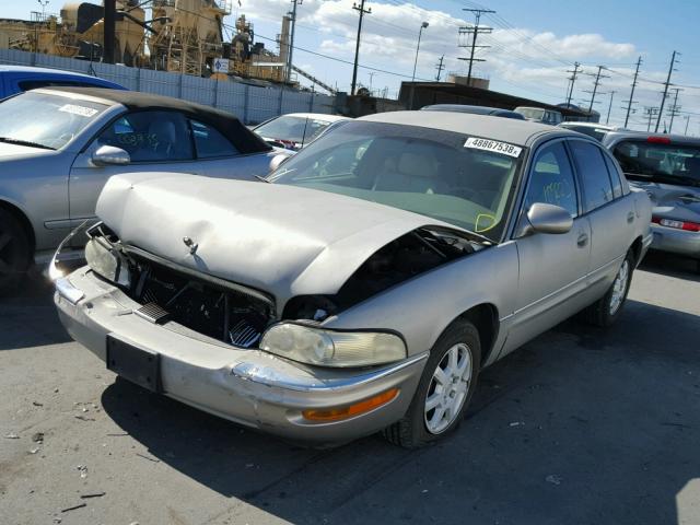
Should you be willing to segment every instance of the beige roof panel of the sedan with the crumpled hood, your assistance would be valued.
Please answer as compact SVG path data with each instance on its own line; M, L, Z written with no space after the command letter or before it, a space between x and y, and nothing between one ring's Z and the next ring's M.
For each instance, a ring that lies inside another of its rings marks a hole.
M529 145L542 135L557 137L581 137L576 131L530 122L515 118L495 118L489 115L456 112L388 112L360 117L357 120L400 124L422 128L453 131L455 133L486 137L518 145Z

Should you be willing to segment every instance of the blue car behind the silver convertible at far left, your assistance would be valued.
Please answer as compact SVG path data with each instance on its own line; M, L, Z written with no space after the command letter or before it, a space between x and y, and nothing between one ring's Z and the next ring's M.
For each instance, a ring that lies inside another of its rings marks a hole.
M115 82L72 71L28 66L0 66L0 98L23 91L51 86L126 90Z

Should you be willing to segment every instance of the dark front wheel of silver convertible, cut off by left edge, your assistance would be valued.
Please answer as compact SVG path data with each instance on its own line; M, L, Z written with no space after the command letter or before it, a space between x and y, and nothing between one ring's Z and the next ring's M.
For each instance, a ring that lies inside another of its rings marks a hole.
M0 208L0 294L16 288L32 262L32 248L22 223Z

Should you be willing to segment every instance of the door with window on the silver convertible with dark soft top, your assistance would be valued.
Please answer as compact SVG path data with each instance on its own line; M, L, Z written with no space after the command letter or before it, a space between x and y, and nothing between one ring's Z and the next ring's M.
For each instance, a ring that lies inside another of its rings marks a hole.
M92 155L102 145L125 150L131 162L127 165L95 165ZM71 168L71 221L93 218L97 197L107 179L118 173L131 172L201 172L185 115L173 110L127 113L97 133Z

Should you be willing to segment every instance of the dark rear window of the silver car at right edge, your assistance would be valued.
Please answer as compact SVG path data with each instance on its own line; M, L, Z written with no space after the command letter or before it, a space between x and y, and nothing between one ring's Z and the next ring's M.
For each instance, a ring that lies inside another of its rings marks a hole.
M612 154L628 178L700 186L700 144L623 140Z

